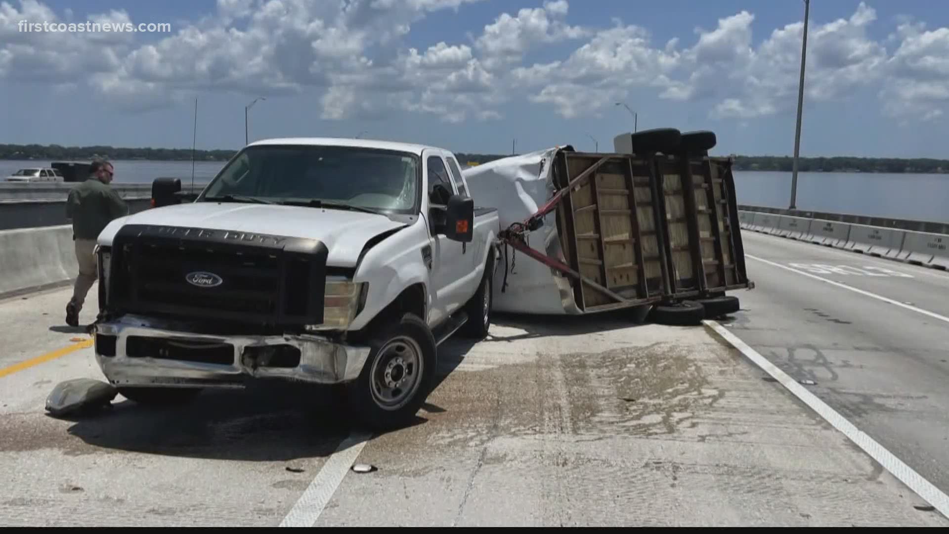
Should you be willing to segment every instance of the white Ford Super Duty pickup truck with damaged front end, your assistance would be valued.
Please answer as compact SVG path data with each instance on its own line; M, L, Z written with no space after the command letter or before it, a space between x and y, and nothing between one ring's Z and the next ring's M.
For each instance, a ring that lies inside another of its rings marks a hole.
M156 208L99 236L96 360L133 401L334 384L364 424L392 428L433 387L442 341L487 334L498 216L474 207L448 150L273 139L192 201L179 191L158 179Z

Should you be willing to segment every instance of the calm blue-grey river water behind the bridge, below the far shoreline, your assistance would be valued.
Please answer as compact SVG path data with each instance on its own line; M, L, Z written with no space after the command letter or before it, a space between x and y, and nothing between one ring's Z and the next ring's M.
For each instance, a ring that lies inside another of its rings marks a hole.
M47 162L0 160L0 177ZM161 176L191 181L191 162L115 161L116 181L148 183ZM208 182L224 162L195 162L195 183ZM2 178L0 178L2 180ZM786 208L790 172L735 172L739 204ZM798 173L797 208L855 215L949 222L949 175Z

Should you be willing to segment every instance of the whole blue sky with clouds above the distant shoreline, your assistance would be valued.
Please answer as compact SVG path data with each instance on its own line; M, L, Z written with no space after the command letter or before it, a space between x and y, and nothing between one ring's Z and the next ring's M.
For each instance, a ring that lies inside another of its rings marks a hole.
M0 143L355 136L507 153L711 129L793 151L804 2L0 0ZM168 33L17 23L170 23ZM949 158L949 3L812 0L801 153Z

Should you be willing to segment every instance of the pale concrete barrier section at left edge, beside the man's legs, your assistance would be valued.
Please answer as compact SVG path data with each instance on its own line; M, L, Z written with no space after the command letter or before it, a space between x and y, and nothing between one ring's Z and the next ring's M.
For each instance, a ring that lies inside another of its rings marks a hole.
M0 231L0 251L0 297L67 285L79 272L70 225Z

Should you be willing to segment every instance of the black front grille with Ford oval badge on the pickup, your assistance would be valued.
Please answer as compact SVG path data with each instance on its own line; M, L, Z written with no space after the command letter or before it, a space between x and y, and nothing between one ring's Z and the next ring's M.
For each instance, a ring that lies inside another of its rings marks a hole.
M110 314L321 324L326 244L317 239L129 224L111 247Z

